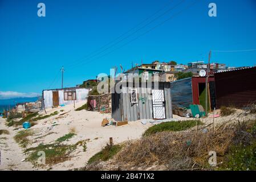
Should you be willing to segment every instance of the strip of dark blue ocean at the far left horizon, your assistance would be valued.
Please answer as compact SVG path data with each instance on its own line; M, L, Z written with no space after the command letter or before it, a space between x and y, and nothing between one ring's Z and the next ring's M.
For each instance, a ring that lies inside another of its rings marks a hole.
M15 107L16 104L22 103L22 102L35 102L38 100L38 97L31 97L31 98L10 98L5 100L0 100L0 113L3 112L3 110L9 110L9 105L11 109Z

